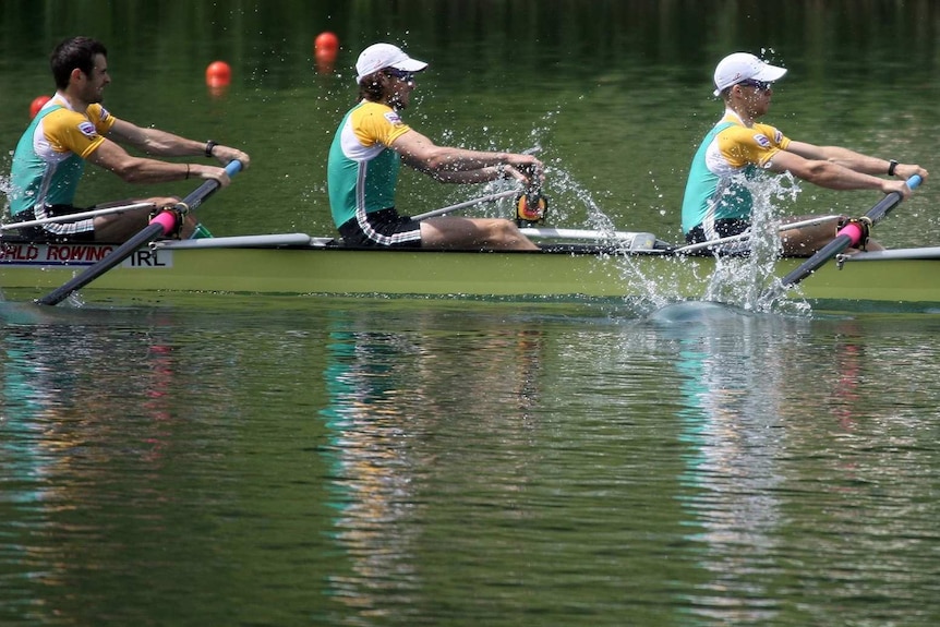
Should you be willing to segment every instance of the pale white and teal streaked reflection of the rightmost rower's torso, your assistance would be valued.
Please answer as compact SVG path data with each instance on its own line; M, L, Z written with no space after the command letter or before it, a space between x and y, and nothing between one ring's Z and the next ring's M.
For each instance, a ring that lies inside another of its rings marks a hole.
M694 605L703 618L772 622L776 611L763 602L771 596L763 582L783 520L775 494L782 482L785 371L768 325L786 323L734 310L719 313L671 329L686 400L680 498L688 524L699 530L689 539L703 545L700 566L708 574Z

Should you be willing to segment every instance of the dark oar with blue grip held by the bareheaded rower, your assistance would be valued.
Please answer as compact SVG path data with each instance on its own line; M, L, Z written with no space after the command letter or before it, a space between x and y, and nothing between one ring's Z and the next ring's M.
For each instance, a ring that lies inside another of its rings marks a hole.
M241 161L233 160L226 166L226 172L229 177L233 177L236 172L241 170ZM185 215L194 210L203 201L208 198L216 190L219 189L219 182L215 179L209 179L200 185L189 196L177 203L173 208ZM75 290L80 290L109 269L113 268L125 258L131 256L134 251L148 244L160 236L169 234L177 226L177 218L171 212L160 212L157 214L142 231L129 239L126 242L111 251L105 258L88 269L74 277L60 288L55 289L45 297L37 299L35 302L41 305L57 305Z

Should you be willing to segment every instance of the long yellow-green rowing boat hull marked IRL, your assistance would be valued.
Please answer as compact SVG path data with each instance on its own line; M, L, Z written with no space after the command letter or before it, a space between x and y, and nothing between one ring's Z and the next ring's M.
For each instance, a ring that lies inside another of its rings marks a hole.
M534 231L534 232L533 232ZM496 298L638 298L746 302L772 282L747 258L677 254L650 233L530 230L541 250L362 250L332 238L279 233L157 241L83 288L250 294L398 294ZM534 238L533 238L534 239ZM0 287L39 296L104 258L108 244L3 241ZM775 262L784 276L799 258ZM728 289L728 285L734 290ZM736 284L736 285L735 285ZM728 297L727 294L734 294ZM749 296L750 294L750 296ZM845 306L940 306L940 246L841 255L788 293Z

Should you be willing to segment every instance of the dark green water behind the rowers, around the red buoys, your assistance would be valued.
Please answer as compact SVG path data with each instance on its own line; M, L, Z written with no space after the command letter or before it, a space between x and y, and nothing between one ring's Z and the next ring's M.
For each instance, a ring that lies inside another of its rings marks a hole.
M251 169L202 209L215 231L325 233L326 150L355 98L352 65L364 46L387 40L431 63L406 113L414 128L442 144L540 148L559 226L598 226L600 213L618 228L673 239L688 161L720 113L711 74L730 51L791 70L767 118L787 135L929 168L938 15L926 0L5 1L0 145L12 150L29 101L51 91L53 45L95 36L110 50L112 112L251 154ZM341 45L328 74L313 57L324 31ZM217 59L233 70L221 96L204 81ZM9 157L0 165L9 168ZM96 173L81 197L132 193L144 190ZM475 195L482 191L409 173L399 206L421 213ZM924 243L935 227L931 198L928 183L882 239ZM810 188L781 212L861 213L876 201Z

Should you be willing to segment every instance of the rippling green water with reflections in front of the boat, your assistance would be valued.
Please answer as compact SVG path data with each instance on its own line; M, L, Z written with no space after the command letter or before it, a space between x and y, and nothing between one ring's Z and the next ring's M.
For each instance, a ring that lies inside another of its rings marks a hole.
M2 310L3 624L940 616L932 316L52 311Z

